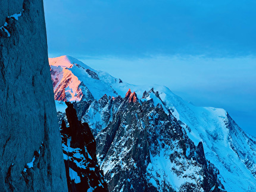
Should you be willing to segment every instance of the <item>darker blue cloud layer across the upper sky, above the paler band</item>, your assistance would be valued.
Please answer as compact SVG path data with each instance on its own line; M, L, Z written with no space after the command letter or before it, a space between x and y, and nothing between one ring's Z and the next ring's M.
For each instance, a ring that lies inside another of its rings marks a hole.
M256 53L256 1L45 0L49 51L86 55Z

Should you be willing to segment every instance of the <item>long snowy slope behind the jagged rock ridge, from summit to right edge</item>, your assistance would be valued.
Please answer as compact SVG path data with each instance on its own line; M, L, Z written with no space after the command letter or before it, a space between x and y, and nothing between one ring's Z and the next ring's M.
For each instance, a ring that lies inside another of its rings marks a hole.
M87 103L88 106L84 107L79 115L80 118L89 122L94 133L99 133L107 127L113 118L111 114L110 117L106 115L107 106L102 108L101 103L97 101L105 94L111 97L117 95L124 97L127 90L131 89L136 92L141 101L153 99L155 106L160 103L167 114L173 114L180 120L180 125L194 143L202 141L205 157L219 169L220 180L227 191L256 190L255 138L244 133L224 109L193 106L174 95L165 86L155 84L135 86L124 83L105 72L93 70L70 56L49 59L49 62L54 73L56 71L58 74L55 67L68 70L74 75L74 78L77 77L80 81L78 88L72 92L77 92L80 89L82 97L76 99L76 95L70 97L67 94L65 98L71 101L80 100L79 105L82 105L82 102ZM58 86L62 86L60 90L69 91L70 87L76 87L73 86L72 80L62 81L65 83L56 80L56 83L59 83ZM144 93L151 90L152 87L154 87L154 94L152 92ZM88 101L90 101L89 104ZM61 106L60 103L57 105Z

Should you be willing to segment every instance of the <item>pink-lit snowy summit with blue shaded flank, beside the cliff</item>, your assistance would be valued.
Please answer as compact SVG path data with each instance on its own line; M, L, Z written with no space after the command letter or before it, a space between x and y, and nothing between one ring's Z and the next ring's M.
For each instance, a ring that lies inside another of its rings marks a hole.
M105 78L99 78L95 70L77 59L61 56L49 59L49 64L56 100L80 101L83 94L81 90L84 90L88 99L98 100L104 94L117 96L111 85L105 82ZM86 90L89 93L86 93Z

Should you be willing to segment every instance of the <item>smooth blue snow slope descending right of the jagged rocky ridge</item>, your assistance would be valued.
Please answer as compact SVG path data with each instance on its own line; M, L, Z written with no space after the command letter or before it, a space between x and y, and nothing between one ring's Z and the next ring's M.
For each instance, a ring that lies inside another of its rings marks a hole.
M168 89L155 89L160 90L167 108L174 109L174 116L185 123L189 138L203 142L205 156L220 170L226 190L237 191L239 187L241 191L254 191L255 139L250 139L224 109L193 106Z

